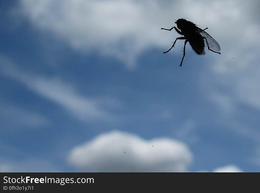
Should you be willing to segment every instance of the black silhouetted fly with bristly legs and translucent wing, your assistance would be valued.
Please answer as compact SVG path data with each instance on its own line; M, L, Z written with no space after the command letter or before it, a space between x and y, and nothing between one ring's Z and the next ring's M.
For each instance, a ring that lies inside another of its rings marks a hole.
M217 43L215 39L213 39L205 30L208 29L207 27L205 29L200 29L196 24L192 23L191 21L187 21L186 19L178 19L176 22L178 30L175 26L172 27L171 29L165 29L168 31L171 31L173 28L178 32L178 34L181 34L184 37L178 37L176 40L173 42L173 45L171 46L170 49L167 51L163 52L163 54L167 53L170 51L177 39L185 39L184 42L184 48L183 48L183 57L181 59L181 64L185 56L185 46L187 42L189 41L192 49L199 55L205 55L205 43L204 40L207 44L207 47L210 51L213 51L215 53L220 54L220 45ZM180 66L181 66L180 64Z

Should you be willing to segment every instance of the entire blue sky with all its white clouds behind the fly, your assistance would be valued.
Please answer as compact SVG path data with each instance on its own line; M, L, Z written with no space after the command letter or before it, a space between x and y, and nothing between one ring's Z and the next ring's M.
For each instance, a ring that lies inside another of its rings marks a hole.
M1 1L1 172L260 171L258 1ZM198 56L171 28L208 27Z

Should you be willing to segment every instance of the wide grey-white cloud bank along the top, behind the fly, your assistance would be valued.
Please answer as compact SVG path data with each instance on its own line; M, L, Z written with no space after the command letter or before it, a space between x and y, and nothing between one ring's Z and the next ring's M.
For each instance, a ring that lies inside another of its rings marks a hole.
M259 43L257 34L252 33L259 31L259 25L251 21L255 16L250 11L255 3L252 1L251 7L243 4L243 1L190 0L23 0L19 1L18 9L36 28L52 32L74 49L115 56L129 67L150 46L168 49L178 34L160 28L170 28L175 19L186 17L201 27L208 26L209 33L219 41L221 57L212 53L210 56L219 61L216 69L224 72L230 70L232 57L243 61L245 47Z

